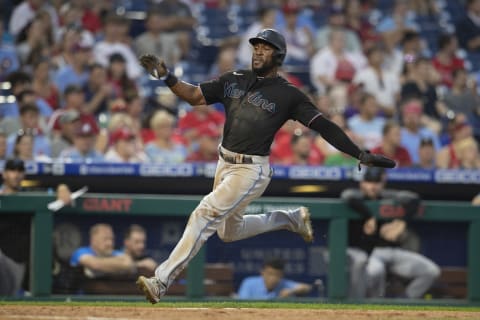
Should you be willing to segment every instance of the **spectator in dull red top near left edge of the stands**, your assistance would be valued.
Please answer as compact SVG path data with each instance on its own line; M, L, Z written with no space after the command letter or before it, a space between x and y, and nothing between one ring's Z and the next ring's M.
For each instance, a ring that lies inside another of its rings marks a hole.
M50 60L43 58L33 65L32 89L53 110L60 108L60 92L50 78Z

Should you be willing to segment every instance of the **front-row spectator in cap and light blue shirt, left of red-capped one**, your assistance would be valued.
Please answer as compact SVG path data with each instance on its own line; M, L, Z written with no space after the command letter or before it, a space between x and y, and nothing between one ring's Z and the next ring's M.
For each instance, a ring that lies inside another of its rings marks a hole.
M75 133L73 146L64 149L59 159L64 162L104 162L102 154L98 153L95 146L96 132L89 123L83 123Z

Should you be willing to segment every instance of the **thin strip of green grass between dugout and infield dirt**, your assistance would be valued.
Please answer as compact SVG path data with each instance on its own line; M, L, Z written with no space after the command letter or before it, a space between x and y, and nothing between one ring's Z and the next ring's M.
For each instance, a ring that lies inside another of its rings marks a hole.
M479 306L458 305L419 305L419 304L346 304L346 303L312 303L310 302L273 302L273 301L165 301L157 305L138 301L7 301L2 305L24 306L108 306L108 307L154 307L154 308L262 308L262 309L335 309L335 310L403 310L403 311L468 311L480 312Z

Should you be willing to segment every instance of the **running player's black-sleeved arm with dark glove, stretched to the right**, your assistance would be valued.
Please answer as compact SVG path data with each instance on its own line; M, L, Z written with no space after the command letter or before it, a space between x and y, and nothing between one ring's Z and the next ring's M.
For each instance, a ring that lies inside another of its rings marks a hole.
M322 115L313 119L309 126L320 133L332 146L360 160L361 164L383 168L394 168L396 166L395 161L387 157L360 150L339 126Z

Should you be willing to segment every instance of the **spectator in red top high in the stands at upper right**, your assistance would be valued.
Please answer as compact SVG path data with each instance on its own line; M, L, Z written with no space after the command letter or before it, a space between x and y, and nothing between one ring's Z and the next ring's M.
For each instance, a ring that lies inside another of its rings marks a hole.
M438 37L438 51L432 64L440 74L441 83L449 88L453 85L452 74L465 67L465 61L457 56L458 40L454 34L441 34Z

